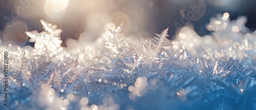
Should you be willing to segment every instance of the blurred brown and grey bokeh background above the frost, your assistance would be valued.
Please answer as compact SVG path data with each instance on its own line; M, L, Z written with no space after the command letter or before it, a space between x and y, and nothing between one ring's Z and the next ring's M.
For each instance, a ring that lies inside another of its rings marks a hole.
M255 30L255 6L255 0L0 0L0 38L33 46L25 31L43 31L43 19L63 30L63 47L69 38L94 41L108 23L135 37L152 37L169 28L172 40L187 24L193 24L200 36L209 34L205 27L210 17L225 12L231 20L247 16L246 26Z

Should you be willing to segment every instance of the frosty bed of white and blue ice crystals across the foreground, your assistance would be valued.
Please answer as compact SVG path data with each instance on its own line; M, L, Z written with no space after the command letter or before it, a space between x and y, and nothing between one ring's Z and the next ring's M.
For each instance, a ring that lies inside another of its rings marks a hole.
M11 66L8 107L256 109L255 32L245 17L228 16L212 18L206 28L213 32L202 38L184 27L176 41L167 39L168 29L131 40L109 24L95 42L69 40L67 48L61 30L41 20L44 32L26 32L33 49L0 48Z

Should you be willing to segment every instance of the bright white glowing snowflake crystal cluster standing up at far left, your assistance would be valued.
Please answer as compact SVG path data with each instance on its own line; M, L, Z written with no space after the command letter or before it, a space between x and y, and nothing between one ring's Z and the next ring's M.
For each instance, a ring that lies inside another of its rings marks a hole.
M58 29L56 25L47 23L44 20L40 20L41 25L45 31L38 33L35 31L25 32L29 36L29 42L34 42L34 50L30 54L34 56L33 59L46 59L56 62L58 59L64 59L61 47L62 40L60 39L60 33L62 30ZM49 58L53 56L54 59ZM44 61L44 60L42 60Z

